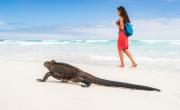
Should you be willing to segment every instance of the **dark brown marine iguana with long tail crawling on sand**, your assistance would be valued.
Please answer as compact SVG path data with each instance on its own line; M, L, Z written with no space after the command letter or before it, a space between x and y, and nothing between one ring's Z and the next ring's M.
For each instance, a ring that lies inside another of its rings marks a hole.
M45 82L49 76L54 77L57 80L61 80L62 82L81 82L82 87L89 87L91 83L104 85L104 86L113 86L113 87L124 87L130 89L138 89L138 90L148 90L148 91L159 91L159 89L142 86L142 85L135 85L125 82L117 82L117 81L110 81L106 79L101 79L95 77L87 72L82 71L81 69L74 67L67 63L56 62L55 60L46 61L44 62L44 66L49 70L43 77L43 79L37 79L39 82Z

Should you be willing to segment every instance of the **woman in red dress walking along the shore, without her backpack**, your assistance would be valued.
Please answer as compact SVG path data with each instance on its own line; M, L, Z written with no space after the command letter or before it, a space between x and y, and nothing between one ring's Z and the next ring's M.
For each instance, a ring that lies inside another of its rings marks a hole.
M126 29L125 22L130 23L128 14L126 12L126 9L123 6L119 6L117 8L117 14L118 14L118 16L120 16L120 19L118 19L116 21L116 25L120 29L119 36L118 36L118 41L117 41L119 57L120 57L120 60L121 60L120 67L123 68L125 66L124 65L123 52L130 58L130 60L132 62L132 67L136 67L137 66L136 62L134 61L131 53L127 50L128 49L128 37L125 35L125 33L123 31L124 29ZM120 24L118 22L120 22Z

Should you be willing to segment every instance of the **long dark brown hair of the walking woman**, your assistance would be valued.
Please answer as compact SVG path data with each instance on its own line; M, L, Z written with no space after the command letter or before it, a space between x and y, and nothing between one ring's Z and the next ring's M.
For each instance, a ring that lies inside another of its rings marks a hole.
M125 22L129 22L130 23L129 16L128 16L127 12L126 12L126 9L123 6L119 6L117 8L117 10L119 10L121 12L120 16L123 17L123 22L124 23Z

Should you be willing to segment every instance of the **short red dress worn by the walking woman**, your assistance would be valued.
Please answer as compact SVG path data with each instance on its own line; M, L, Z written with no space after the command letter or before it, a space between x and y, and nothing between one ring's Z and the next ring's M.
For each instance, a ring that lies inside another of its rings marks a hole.
M126 29L124 25L124 29ZM128 44L128 37L124 33L123 30L120 30L118 40L117 40L117 48L118 49L128 49L129 44Z

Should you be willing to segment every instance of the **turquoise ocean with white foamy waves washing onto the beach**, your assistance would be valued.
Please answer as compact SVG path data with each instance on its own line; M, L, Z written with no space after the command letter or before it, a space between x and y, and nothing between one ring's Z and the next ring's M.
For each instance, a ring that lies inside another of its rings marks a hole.
M180 40L129 40L128 50L138 70L180 74ZM117 40L0 40L0 59L120 65Z

